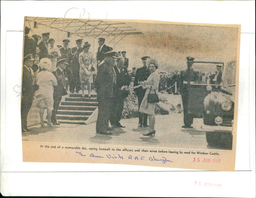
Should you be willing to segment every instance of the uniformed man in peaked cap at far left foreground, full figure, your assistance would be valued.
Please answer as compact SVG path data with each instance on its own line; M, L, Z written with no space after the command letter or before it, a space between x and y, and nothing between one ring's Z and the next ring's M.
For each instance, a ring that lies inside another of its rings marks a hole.
M33 56L28 54L23 58L23 71L22 71L22 91L21 91L21 131L31 131L27 126L28 112L32 106L34 89L33 89L33 76L31 67L33 65Z

